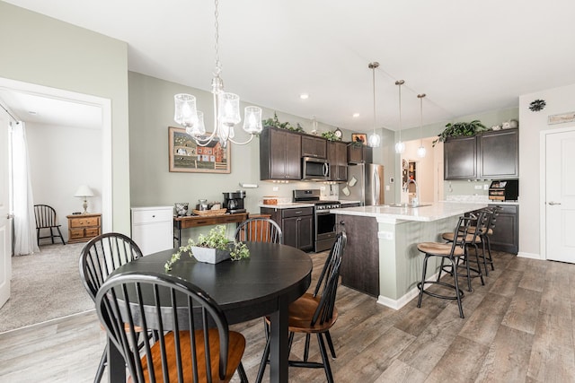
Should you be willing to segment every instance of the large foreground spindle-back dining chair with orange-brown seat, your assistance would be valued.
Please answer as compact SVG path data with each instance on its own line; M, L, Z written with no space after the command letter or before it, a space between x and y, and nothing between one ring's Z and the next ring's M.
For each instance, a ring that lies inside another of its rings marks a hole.
M96 311L132 381L227 382L240 366L243 335L229 331L207 292L177 276L115 274L96 295ZM144 337L138 348L137 327L158 339Z

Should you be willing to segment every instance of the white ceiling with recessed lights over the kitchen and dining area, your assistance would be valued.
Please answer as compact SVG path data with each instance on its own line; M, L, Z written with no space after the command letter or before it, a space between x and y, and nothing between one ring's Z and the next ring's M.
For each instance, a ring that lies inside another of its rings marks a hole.
M210 89L208 0L4 1L127 41L131 71ZM424 124L447 122L575 83L574 13L572 0L221 0L222 78L246 102L360 132L378 61L376 126L399 128L398 79L403 128L419 126L421 92Z

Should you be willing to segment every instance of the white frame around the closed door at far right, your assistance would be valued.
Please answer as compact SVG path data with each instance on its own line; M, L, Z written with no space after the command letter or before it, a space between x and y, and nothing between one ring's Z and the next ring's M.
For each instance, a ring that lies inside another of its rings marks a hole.
M557 133L575 132L575 125L562 128L553 128L539 132L539 252L541 259L547 259L547 188L545 185L547 176L547 135Z

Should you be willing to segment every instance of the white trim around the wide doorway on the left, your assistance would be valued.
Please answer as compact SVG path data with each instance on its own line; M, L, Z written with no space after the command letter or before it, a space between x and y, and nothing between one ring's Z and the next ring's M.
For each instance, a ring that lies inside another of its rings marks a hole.
M0 87L50 99L79 102L102 109L102 232L112 230L111 100L0 77Z

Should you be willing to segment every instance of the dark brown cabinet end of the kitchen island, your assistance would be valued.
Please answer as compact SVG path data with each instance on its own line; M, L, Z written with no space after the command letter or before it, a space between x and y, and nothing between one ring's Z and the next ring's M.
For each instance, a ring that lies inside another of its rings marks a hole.
M373 297L379 296L379 241L375 218L337 215L338 232L348 238L341 258L341 284Z

